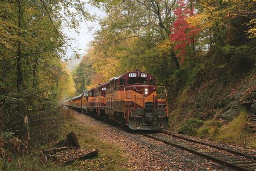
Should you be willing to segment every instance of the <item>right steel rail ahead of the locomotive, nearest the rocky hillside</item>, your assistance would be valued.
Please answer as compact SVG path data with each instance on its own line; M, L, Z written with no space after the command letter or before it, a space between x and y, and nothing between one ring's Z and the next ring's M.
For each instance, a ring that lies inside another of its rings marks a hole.
M210 147L213 147L213 148L222 149L224 151L227 151L227 152L230 152L230 153L233 153L233 154L244 156L245 158L250 158L250 159L254 159L254 160L256 159L256 156L241 153L241 152L237 152L237 151L233 151L232 149L228 149L228 148L224 148L224 147L220 147L220 146L214 146L214 145L211 145L210 143L205 143L205 142L193 140L193 139L190 139L190 138L185 138L183 136L172 134L172 133L169 133L169 132L166 132L166 131L159 131L159 132L163 133L163 134L174 136L174 137L179 138L179 139L187 140L187 141L190 141L190 142L196 142L196 143L200 143L202 145L210 146Z

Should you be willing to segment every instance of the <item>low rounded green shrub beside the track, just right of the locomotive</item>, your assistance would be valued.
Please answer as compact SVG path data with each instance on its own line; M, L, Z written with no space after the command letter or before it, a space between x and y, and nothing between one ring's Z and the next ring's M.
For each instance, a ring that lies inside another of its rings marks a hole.
M200 119L188 119L181 125L178 129L178 133L180 134L188 134L188 135L195 135L197 133L197 128L203 125L203 120Z

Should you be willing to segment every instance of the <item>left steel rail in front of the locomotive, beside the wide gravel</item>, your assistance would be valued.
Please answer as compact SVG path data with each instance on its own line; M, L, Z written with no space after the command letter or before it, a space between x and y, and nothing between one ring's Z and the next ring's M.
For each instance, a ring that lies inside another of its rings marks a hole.
M160 139L160 138L157 138L156 136L152 136L152 135L149 135L149 134L146 134L146 133L142 133L142 132L139 132L139 134L142 134L144 136L147 136L149 138L152 138L154 140L157 140L157 141L161 141L161 142L164 142L166 143L167 145L171 145L173 147L177 147L177 148L180 148L180 149L183 149L184 151L187 151L187 152L190 152L192 154L196 154L198 156L201 156L205 159L208 159L208 160L212 160L216 163L219 163L220 165L223 165L223 166L226 166L226 167L229 167L229 168L232 168L232 169L237 169L237 170L248 170L246 168L242 168L240 166L237 166L237 165L234 165L232 163L229 163L229 162L226 162L224 160L221 160L221 159L218 159L218 158L214 158L213 156L211 155L207 155L207 154L204 154L204 153L200 153L198 151L194 151L193 149L190 149L190 148L187 148L187 147L184 147L184 146L180 146L180 145L177 145L176 143L172 143L170 141L166 141L166 140L163 140L163 139Z

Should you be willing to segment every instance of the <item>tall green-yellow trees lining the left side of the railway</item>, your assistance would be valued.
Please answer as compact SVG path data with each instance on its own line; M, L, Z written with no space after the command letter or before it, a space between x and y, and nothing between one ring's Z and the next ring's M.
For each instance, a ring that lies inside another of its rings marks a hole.
M72 81L62 61L70 38L62 29L77 28L80 17L92 18L83 5L78 0L0 2L3 132L26 138L28 117L31 139L37 141L46 129L43 123L56 117L58 101L65 93L72 97L73 88L66 85L73 86Z

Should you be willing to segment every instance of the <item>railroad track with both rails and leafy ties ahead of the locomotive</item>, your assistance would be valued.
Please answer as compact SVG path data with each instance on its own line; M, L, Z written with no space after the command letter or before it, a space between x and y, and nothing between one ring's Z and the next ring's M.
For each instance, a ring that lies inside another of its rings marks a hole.
M184 151L201 156L205 159L212 160L231 169L256 170L256 156L253 155L188 139L165 131L159 133L139 132L139 134L164 142L167 145L183 149Z

